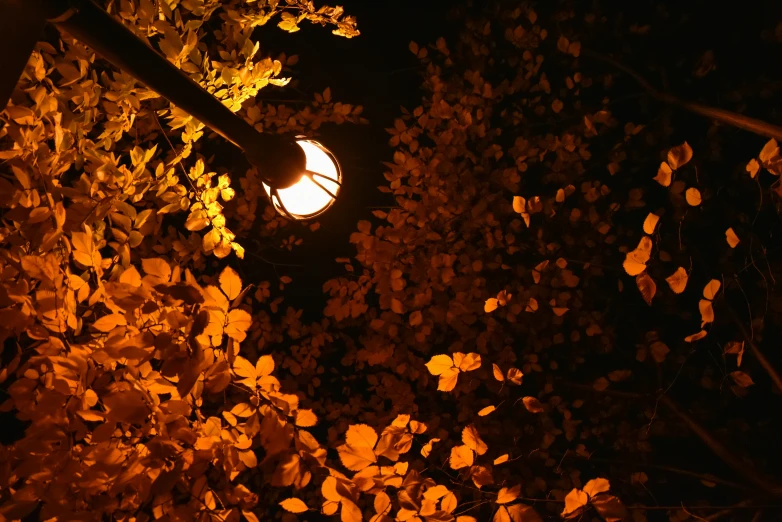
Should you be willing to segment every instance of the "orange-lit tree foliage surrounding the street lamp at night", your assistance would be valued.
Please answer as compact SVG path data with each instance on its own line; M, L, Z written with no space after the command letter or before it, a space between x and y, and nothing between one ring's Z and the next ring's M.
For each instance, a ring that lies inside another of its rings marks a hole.
M257 31L360 41L340 7L105 7L259 131L367 124L330 90L258 97L298 56ZM19 426L0 516L776 519L782 83L731 65L730 38L692 42L702 8L468 2L458 38L411 42L421 103L388 122L389 205L315 321L289 275L243 266L318 224L47 33L0 114L0 409ZM779 57L780 19L755 23Z

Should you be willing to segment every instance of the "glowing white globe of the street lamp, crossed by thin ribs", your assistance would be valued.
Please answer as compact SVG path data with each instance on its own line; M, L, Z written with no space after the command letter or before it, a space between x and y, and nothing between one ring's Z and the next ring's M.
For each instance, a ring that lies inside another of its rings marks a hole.
M298 181L286 188L266 183L263 188L280 214L292 219L312 219L328 210L342 188L342 170L337 158L314 140L297 139L304 151L305 170Z

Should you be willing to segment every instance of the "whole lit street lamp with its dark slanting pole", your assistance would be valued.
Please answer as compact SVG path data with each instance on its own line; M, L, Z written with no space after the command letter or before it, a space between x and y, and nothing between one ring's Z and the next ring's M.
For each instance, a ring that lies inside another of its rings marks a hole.
M328 149L301 136L256 131L92 0L0 0L2 109L47 22L241 148L281 214L310 219L334 203L342 172Z

